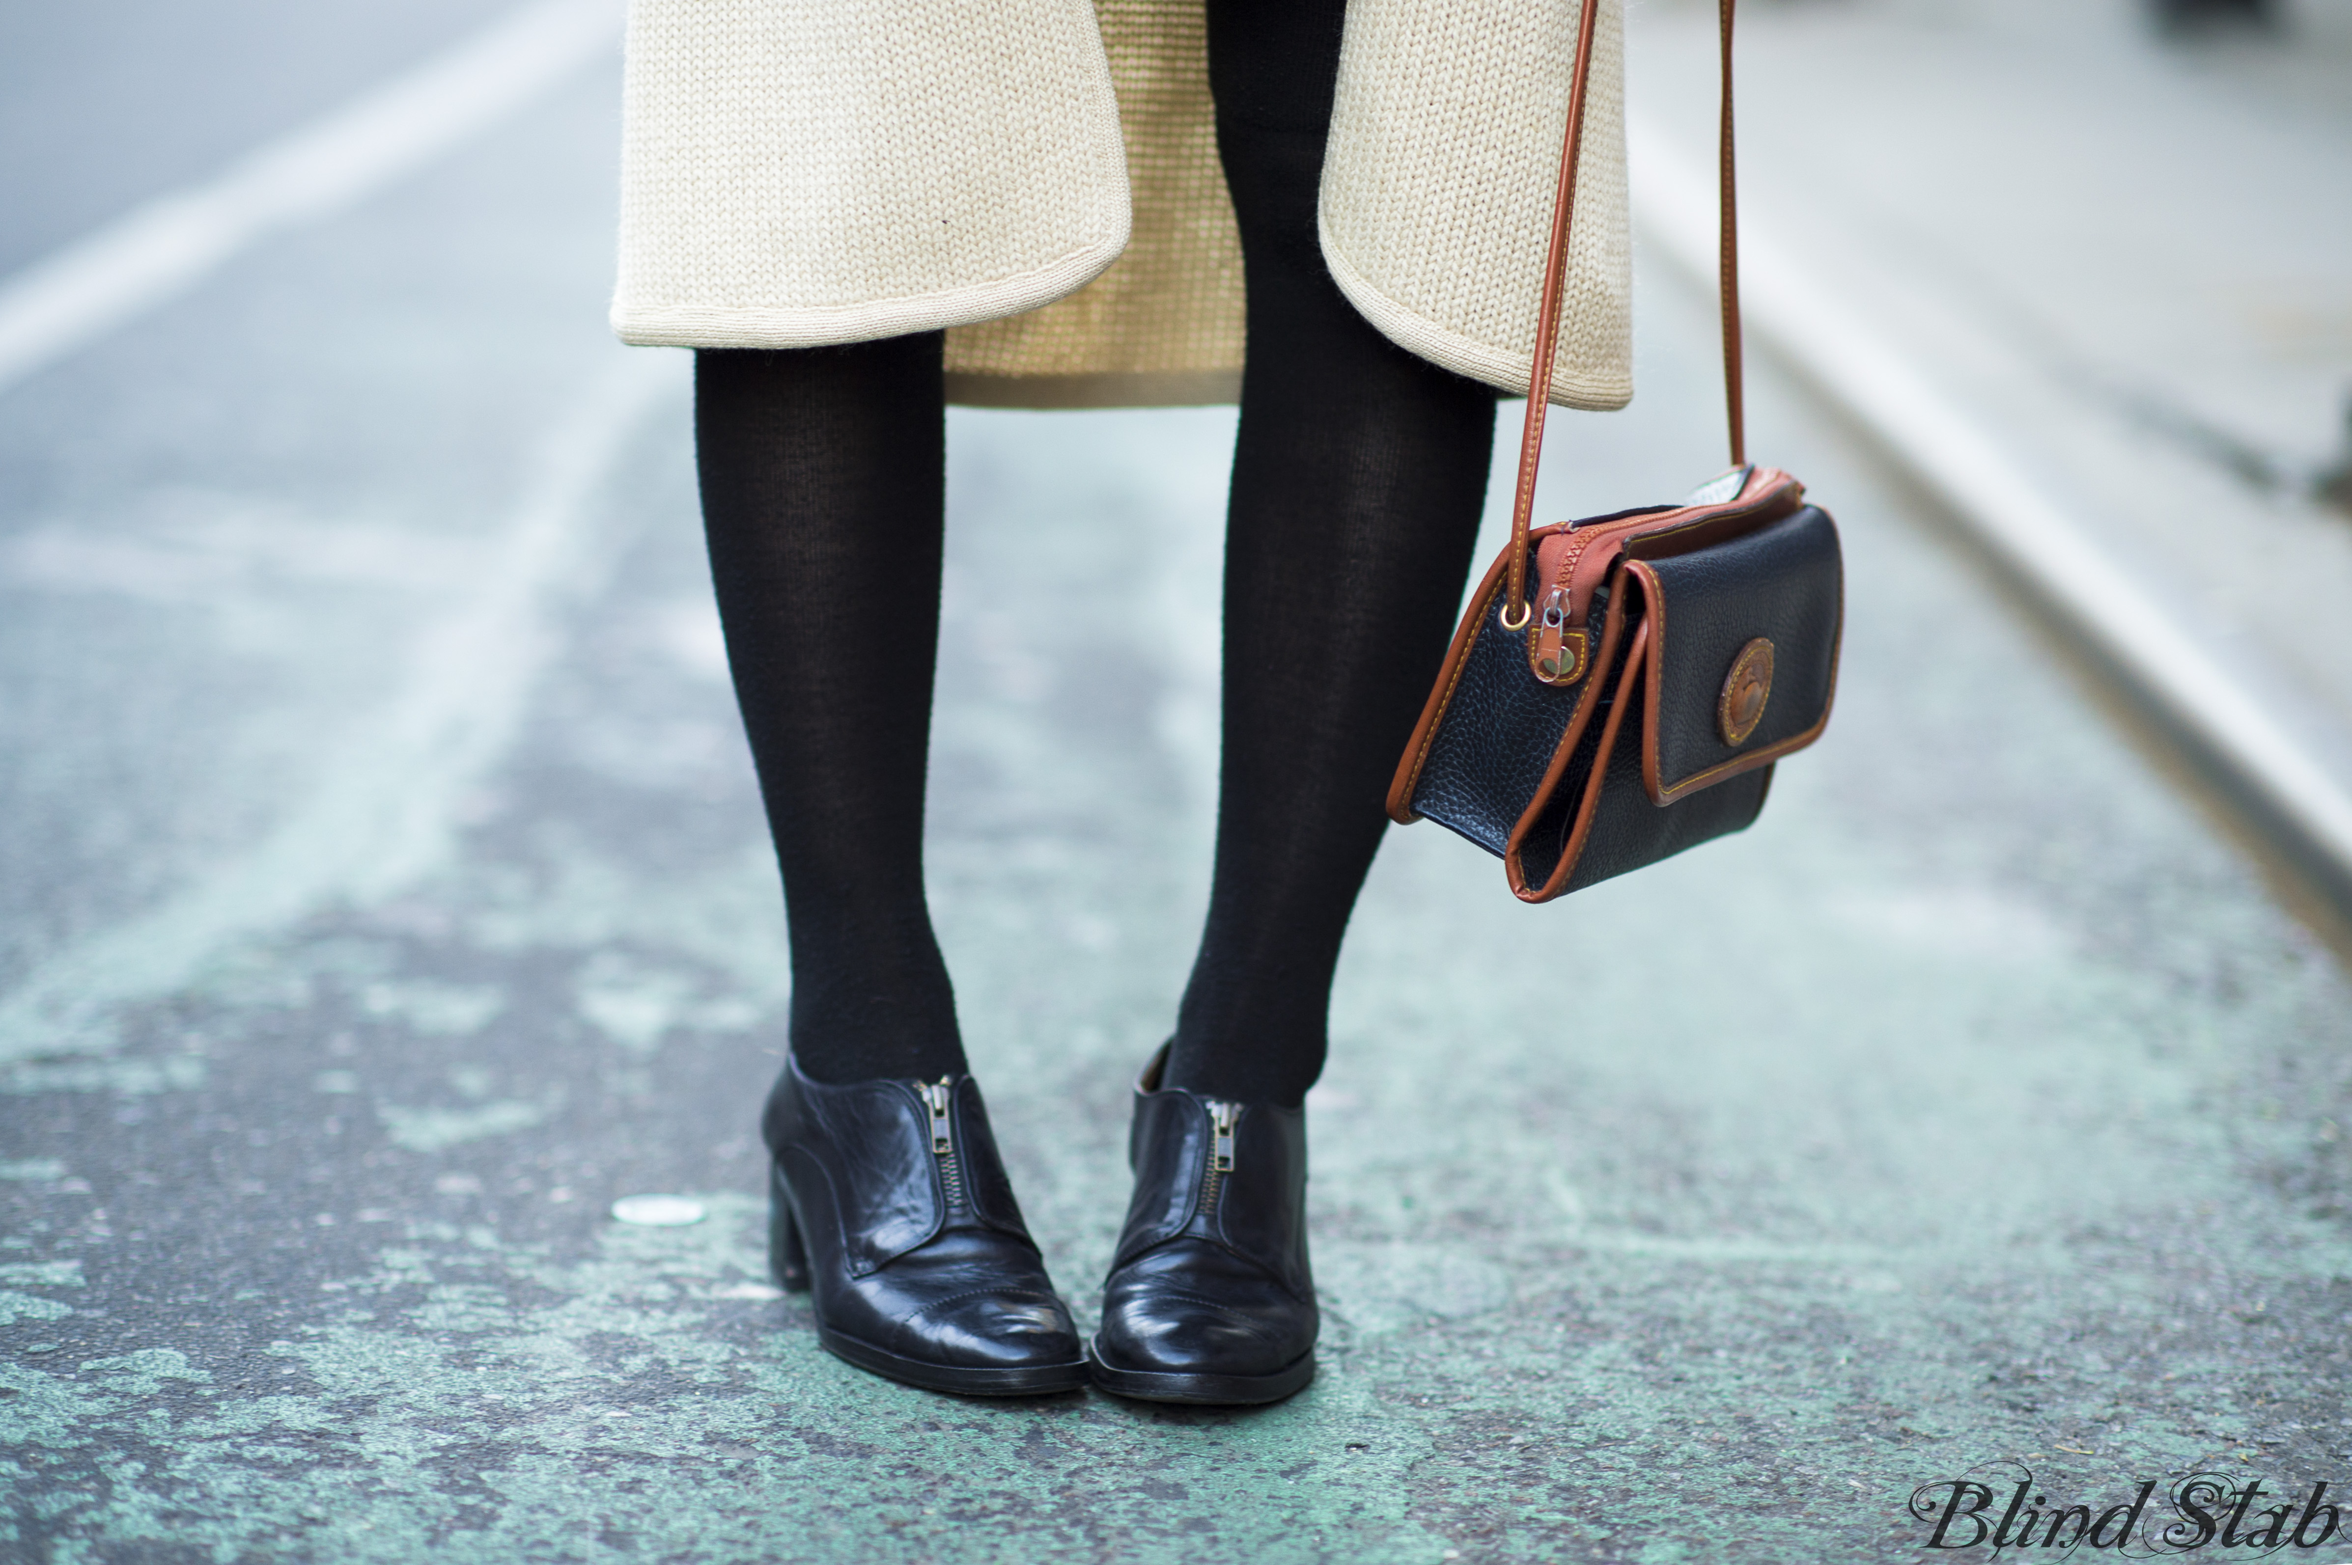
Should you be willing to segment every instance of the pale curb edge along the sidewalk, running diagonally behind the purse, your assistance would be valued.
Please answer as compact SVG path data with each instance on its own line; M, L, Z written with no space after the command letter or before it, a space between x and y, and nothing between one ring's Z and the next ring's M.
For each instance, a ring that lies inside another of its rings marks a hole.
M1625 132L1635 221L1679 270L1712 289L1712 174L1639 122ZM2288 841L2314 891L2352 912L2352 797L2183 634L2180 613L2159 611L1976 421L1748 223L1740 308L1755 338L1926 484L2013 580L2220 768Z

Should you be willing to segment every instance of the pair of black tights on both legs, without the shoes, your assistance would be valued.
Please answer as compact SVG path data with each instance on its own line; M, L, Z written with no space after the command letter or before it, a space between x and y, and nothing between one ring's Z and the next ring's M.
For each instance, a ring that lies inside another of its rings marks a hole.
M1322 263L1338 16L1341 0L1209 5L1249 364L1216 879L1169 1081L1244 1102L1298 1102L1322 1069L1341 935L1494 442L1494 392L1388 343ZM938 355L931 334L696 360L710 562L793 928L793 1050L823 1081L962 1069L922 902Z

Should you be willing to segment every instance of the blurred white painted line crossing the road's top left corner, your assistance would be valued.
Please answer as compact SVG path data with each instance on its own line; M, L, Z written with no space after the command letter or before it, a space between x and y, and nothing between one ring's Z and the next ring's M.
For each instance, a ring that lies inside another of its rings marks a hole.
M492 127L619 38L609 0L541 0L214 181L158 197L0 282L0 390Z

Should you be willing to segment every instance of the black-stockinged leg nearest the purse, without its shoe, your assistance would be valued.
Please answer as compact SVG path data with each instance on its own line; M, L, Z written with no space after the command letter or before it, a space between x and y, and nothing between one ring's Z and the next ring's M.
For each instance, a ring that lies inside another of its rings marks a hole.
M1383 338L1315 237L1343 0L1209 0L1249 362L1225 533L1216 881L1169 1081L1298 1102L1383 799L1444 658L1494 392Z

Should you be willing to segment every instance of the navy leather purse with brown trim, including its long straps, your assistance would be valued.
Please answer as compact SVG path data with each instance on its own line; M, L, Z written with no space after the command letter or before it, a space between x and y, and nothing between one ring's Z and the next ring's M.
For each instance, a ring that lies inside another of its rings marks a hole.
M1510 545L1472 592L1388 790L1397 822L1425 815L1501 855L1524 902L1750 825L1773 761L1820 738L1837 691L1837 524L1804 484L1745 456L1731 0L1719 5L1731 470L1679 505L1529 526L1592 66L1585 0Z

